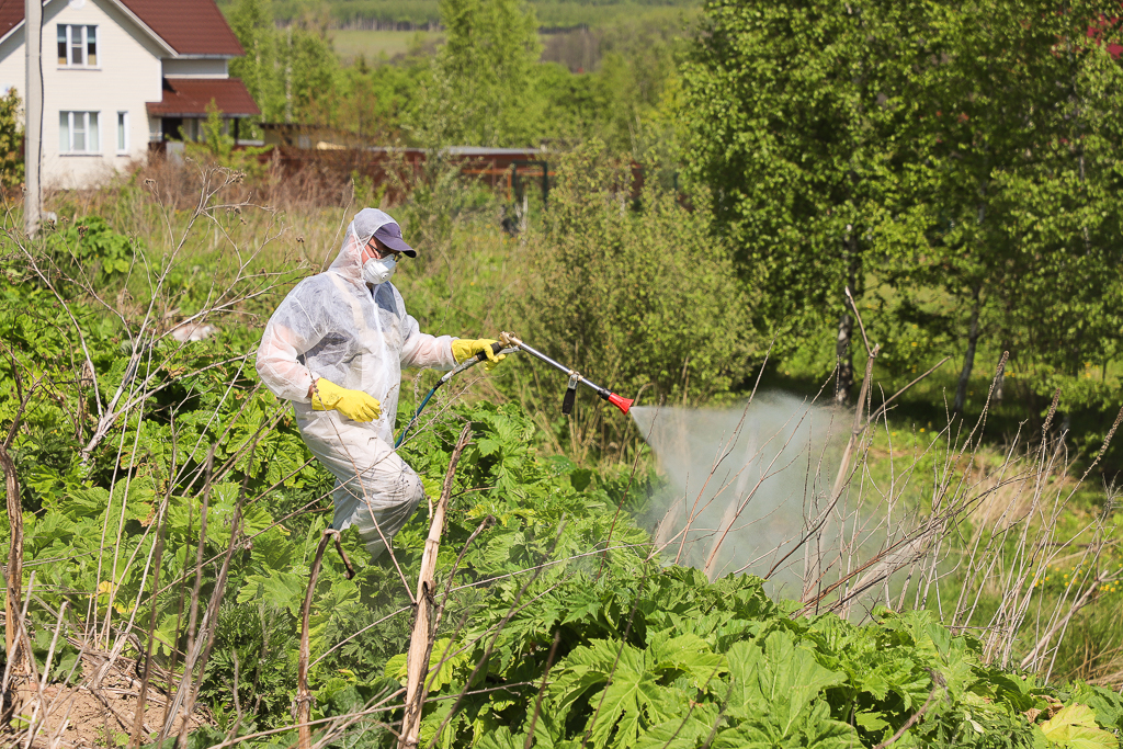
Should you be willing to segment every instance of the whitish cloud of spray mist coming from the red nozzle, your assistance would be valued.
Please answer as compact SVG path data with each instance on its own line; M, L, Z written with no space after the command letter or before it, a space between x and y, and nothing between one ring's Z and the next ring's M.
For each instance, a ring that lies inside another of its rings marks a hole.
M774 594L798 596L807 555L796 550L828 494L846 445L846 410L784 393L725 409L631 409L668 487L641 519L667 563L710 579L764 576ZM775 567L775 569L773 569Z

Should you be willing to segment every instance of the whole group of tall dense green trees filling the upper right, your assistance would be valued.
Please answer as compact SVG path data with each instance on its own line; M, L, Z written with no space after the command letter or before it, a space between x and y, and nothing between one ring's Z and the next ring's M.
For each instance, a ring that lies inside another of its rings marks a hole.
M955 412L984 342L1038 393L1116 402L1119 15L1035 0L707 2L682 67L682 163L763 292L758 325L832 330L842 400L849 287L886 325L920 322L960 355Z

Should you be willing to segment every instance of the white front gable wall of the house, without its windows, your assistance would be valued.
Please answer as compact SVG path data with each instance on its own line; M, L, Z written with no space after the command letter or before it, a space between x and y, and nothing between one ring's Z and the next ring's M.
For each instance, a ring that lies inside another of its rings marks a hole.
M163 98L161 55L166 54L145 31L107 0L86 0L80 8L51 2L43 9L43 185L84 188L104 182L133 159L148 153L145 104ZM98 27L98 64L58 65L57 26ZM0 85L15 83L24 97L24 30L0 45ZM15 79L9 83L9 79ZM95 153L60 153L60 112L98 112L100 144ZM117 113L128 112L128 148L119 153Z

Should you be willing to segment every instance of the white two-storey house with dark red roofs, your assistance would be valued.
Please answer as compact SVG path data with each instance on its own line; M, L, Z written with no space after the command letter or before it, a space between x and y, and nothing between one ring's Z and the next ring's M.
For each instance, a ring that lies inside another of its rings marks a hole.
M0 0L0 92L25 88L25 0ZM43 2L44 186L97 184L149 144L195 139L213 101L235 122L261 111L228 74L243 55L214 0Z

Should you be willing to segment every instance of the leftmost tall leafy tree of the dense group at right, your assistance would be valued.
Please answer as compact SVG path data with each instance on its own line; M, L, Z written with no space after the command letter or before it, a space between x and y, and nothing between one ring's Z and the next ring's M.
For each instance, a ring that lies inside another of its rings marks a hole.
M765 290L763 325L838 320L839 394L852 380L853 320L867 263L897 240L904 156L917 116L916 8L834 0L714 0L684 68L687 175L714 211L746 277Z

